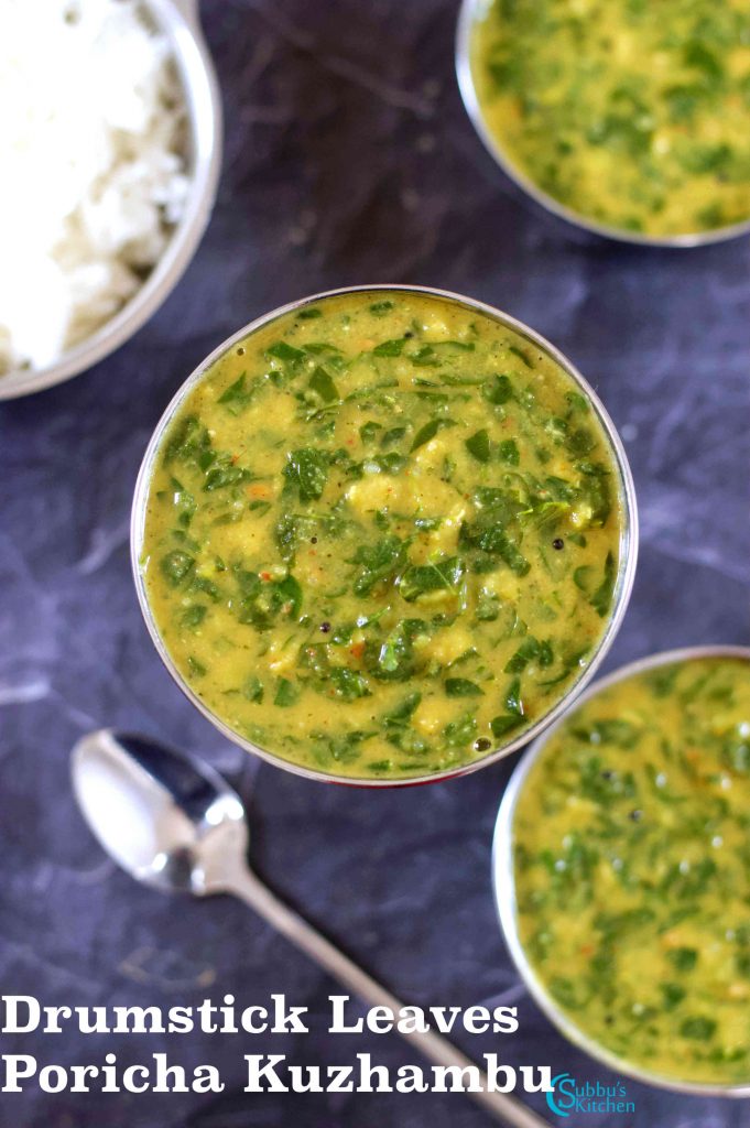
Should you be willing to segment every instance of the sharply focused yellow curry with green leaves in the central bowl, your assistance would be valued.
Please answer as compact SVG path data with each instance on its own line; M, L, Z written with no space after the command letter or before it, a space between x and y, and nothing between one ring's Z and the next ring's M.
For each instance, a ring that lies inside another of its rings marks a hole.
M573 379L406 291L279 317L158 450L148 600L231 729L356 777L449 769L568 693L607 627L619 472Z

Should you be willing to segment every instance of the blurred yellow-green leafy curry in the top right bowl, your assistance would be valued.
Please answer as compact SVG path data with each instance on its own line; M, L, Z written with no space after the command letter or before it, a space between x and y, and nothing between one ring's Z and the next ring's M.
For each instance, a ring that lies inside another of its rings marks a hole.
M494 0L471 69L509 160L574 212L651 236L750 218L747 0Z

